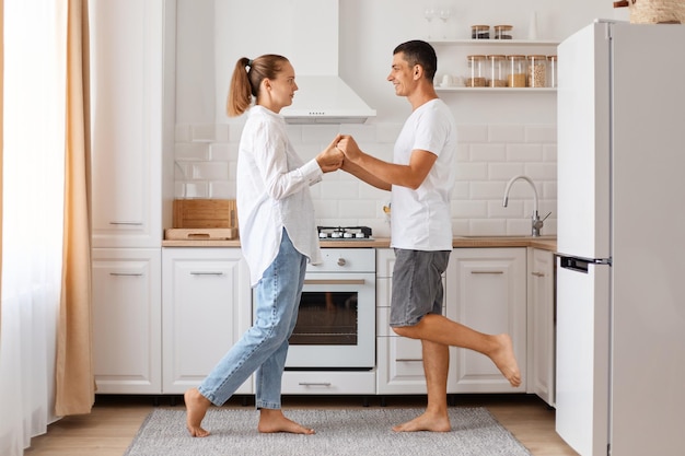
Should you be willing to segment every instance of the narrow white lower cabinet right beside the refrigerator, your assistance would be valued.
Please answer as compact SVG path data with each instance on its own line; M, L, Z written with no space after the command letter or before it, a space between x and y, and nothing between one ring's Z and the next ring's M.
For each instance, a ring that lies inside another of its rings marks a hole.
M555 260L554 254L529 248L527 391L555 405Z

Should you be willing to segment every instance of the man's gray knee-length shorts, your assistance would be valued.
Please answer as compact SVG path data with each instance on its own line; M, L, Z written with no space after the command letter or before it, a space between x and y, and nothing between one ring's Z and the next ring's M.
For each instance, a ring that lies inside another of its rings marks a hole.
M449 250L395 249L390 326L414 326L427 314L442 314L442 273Z

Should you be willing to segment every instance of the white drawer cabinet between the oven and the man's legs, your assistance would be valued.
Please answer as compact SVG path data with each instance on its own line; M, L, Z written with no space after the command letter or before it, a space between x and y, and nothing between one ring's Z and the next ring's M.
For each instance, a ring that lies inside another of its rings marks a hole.
M394 264L393 249L376 250L376 393L380 395L426 394L421 341L399 337L390 328ZM456 349L450 348L450 350ZM448 376L449 386L453 387L455 378L455 369L451 365Z

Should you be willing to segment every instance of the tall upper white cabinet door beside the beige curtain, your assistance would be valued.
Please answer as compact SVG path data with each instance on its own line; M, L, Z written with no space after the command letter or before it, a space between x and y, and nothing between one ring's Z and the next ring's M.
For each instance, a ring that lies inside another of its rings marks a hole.
M94 247L160 247L164 0L95 1L91 21Z

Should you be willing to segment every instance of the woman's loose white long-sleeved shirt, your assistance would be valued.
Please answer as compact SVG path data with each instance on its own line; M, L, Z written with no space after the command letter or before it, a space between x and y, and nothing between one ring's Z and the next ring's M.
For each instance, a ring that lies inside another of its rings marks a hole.
M310 185L323 172L294 151L280 114L255 105L247 112L237 155L237 215L243 255L256 285L271 265L283 227L312 264L321 262Z

